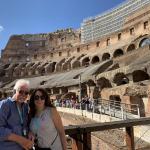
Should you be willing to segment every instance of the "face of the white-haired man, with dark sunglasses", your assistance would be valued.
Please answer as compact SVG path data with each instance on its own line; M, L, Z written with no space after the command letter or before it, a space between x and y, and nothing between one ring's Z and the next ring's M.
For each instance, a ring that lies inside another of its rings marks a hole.
M27 86L21 86L18 90L16 90L16 101L19 103L23 103L27 100L29 94L29 89Z

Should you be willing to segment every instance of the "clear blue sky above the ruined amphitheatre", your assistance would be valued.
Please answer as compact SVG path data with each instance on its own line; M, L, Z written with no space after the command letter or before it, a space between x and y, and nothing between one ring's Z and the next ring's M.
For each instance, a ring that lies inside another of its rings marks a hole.
M83 19L96 16L125 0L0 0L0 50L14 34L48 33L80 28Z

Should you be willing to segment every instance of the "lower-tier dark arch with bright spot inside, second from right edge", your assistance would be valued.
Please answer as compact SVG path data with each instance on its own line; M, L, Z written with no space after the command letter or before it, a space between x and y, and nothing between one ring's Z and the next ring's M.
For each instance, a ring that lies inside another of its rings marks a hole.
M123 84L128 84L129 83L129 79L127 78L127 76L124 73L117 73L114 76L113 82L119 86L119 85L123 85Z

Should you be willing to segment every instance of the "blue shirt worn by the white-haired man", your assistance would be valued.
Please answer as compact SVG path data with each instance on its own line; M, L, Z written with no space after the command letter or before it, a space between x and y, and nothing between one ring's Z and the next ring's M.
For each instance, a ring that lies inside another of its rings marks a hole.
M12 141L8 141L7 137L11 134L21 135L23 128L28 130L28 105L23 104L23 125L17 109L15 100L8 98L0 102L0 149L2 150L22 150L23 148Z

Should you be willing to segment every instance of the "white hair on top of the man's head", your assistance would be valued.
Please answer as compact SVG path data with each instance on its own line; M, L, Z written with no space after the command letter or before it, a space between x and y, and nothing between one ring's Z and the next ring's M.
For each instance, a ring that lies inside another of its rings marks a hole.
M28 89L30 88L30 82L25 79L19 79L17 80L14 90L19 90L22 86L26 86Z

